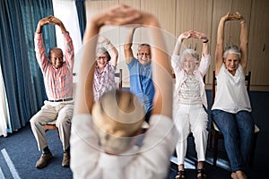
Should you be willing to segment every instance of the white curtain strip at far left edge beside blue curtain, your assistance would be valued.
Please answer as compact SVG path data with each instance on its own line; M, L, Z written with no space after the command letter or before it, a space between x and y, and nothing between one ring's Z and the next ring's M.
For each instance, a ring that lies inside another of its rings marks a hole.
M2 68L0 65L0 136L4 135L6 137L7 135L7 121L9 121L9 117Z

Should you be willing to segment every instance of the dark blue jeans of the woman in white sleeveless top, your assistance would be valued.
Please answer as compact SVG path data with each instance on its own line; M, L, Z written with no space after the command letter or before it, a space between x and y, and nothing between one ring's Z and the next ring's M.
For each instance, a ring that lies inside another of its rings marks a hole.
M232 172L243 170L254 137L255 123L251 113L231 114L219 109L212 111L213 121L221 130Z

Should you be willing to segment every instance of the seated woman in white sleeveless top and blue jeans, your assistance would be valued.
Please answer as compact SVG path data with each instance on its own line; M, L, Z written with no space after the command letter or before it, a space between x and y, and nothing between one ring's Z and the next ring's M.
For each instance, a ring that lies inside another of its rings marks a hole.
M240 21L240 48L223 47L226 21ZM240 13L227 13L218 28L215 54L217 91L212 107L213 120L224 136L230 159L231 178L246 179L244 166L254 136L254 120L245 84L247 69L247 25Z

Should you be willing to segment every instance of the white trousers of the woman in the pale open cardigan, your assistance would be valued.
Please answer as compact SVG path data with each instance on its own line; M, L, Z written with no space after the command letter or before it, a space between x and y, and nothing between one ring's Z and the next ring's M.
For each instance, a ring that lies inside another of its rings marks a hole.
M176 110L176 111L175 111ZM184 164L187 153L187 136L190 132L195 138L195 150L198 161L205 160L207 146L208 115L201 104L174 107L174 123L178 129L178 143L176 146L178 165Z

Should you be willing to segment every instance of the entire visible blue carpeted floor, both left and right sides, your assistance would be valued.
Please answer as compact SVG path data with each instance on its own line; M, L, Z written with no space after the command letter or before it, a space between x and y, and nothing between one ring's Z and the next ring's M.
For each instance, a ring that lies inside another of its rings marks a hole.
M210 98L210 91L207 91ZM256 124L260 127L256 145L256 156L254 166L247 168L249 179L259 179L267 175L269 168L269 145L267 136L269 136L269 92L250 92L250 99L253 107L253 115ZM210 105L210 101L209 101ZM9 134L8 137L0 137L0 179L68 179L73 178L70 168L61 166L62 162L62 146L58 139L56 131L48 131L48 145L54 158L49 165L43 169L35 167L36 161L39 159L40 152L37 143L30 130L30 124L23 127L18 132ZM195 178L195 149L192 138L188 139L188 150L186 158L187 178ZM229 162L220 142L220 155L217 166L213 166L213 149L207 149L205 169L208 179L228 179L230 178ZM175 178L177 173L177 158L171 158L171 166L169 167L168 178Z

